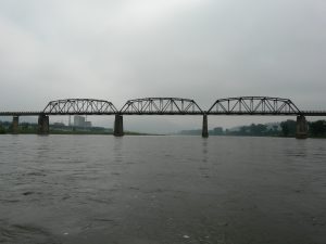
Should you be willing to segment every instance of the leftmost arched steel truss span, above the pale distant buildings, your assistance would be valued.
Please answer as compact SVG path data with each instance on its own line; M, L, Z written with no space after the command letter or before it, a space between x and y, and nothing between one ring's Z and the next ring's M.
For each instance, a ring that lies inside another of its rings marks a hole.
M49 102L42 113L48 115L110 115L116 114L117 110L105 100L65 99Z

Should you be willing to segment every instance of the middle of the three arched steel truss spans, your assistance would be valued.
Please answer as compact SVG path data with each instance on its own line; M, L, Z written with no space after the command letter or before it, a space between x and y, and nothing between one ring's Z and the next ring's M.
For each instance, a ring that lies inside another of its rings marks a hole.
M126 115L201 115L203 111L190 99L146 98L128 100L120 113Z

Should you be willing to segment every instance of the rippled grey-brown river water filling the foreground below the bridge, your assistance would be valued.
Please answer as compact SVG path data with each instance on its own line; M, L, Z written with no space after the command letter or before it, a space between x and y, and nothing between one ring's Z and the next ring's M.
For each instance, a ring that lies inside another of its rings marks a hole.
M0 136L0 243L325 244L326 140Z

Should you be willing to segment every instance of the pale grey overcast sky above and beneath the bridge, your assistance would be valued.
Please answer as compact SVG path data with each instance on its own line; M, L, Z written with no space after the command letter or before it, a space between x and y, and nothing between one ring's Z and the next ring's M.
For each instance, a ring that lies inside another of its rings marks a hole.
M0 111L65 98L120 108L146 97L189 98L206 110L239 95L326 110L325 29L325 0L0 0ZM125 124L188 129L201 118ZM210 116L210 127L241 124Z

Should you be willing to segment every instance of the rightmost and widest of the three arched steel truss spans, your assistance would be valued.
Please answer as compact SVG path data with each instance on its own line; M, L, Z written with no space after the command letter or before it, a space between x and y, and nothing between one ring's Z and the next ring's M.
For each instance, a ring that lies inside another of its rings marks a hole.
M220 99L211 106L212 115L299 115L300 110L289 99L240 97Z

